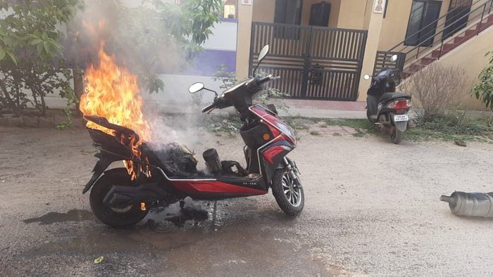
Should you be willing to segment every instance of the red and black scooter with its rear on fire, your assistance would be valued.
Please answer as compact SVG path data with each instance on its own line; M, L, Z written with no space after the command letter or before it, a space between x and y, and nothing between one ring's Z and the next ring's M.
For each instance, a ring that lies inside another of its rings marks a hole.
M264 46L260 51L259 64L267 56L268 49ZM101 63L99 68L104 68L104 64ZM101 80L91 82L91 73L95 73L91 68L88 73L89 84L101 86ZM112 74L109 71L106 73ZM99 75L94 74L96 76ZM93 105L108 99L99 99L99 102L89 99L104 97L90 94L91 89L98 91L105 88L89 87L89 93L82 98L81 110L88 121L94 146L99 150L96 154L99 161L83 193L91 190L90 204L96 217L114 228L126 228L144 219L149 208L178 201L183 205L187 196L194 200L222 200L264 195L269 188L272 188L281 210L291 216L299 214L304 207L304 191L297 165L287 157L297 145L294 131L277 115L275 109L252 104L252 98L261 91L263 84L277 78L272 75L255 76L228 89L221 96L216 94L213 103L202 109L202 112L211 112L234 107L243 122L239 133L245 143L246 169L238 162L221 161L216 150L209 149L203 155L207 172L196 169L198 160L184 146L172 143L166 150L156 151L146 144L149 128L139 113L139 101L137 111L134 110L137 120L122 120L129 112L127 109L136 107L135 101L130 101L123 109L106 118L101 113L110 109ZM108 82L113 85L116 80ZM130 91L126 86L121 89ZM196 83L190 86L189 92L193 94L202 89L205 89L204 84ZM106 170L116 161L123 161L125 168Z

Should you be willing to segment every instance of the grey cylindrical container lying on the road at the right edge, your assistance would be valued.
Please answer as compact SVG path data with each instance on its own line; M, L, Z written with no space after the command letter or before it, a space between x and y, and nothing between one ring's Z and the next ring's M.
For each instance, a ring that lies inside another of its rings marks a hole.
M493 217L493 193L463 193L456 191L440 200L449 202L452 213L466 217Z

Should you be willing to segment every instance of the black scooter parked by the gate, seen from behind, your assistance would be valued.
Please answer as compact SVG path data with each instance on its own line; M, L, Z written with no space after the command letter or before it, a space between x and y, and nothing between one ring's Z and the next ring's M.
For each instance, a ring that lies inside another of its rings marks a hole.
M397 56L392 56L392 61ZM388 134L393 143L399 144L402 132L409 127L408 111L411 108L411 96L395 92L394 73L397 70L384 69L371 76L371 85L366 98L366 116L380 131ZM364 79L370 79L365 75Z

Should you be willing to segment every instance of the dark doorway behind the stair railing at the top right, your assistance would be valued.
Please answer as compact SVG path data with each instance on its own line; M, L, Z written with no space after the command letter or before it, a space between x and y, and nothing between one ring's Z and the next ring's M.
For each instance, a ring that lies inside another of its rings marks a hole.
M442 39L447 39L451 35L468 25L470 6L473 0L451 0L447 20L445 20L445 30Z

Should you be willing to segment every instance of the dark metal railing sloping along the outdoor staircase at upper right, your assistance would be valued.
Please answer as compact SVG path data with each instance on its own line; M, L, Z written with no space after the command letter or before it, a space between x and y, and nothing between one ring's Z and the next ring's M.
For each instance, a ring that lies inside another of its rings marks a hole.
M467 13L457 13L457 9L461 7L457 7L451 9L448 13L440 16L437 20L430 22L430 24L418 30L418 32L411 34L406 37L403 41L401 41L396 46L392 47L388 51L378 51L377 56L375 58L375 68L374 72L380 70L382 68L392 68L393 65L396 67L394 69L401 70L404 72L408 67L411 67L416 64L416 61L421 60L422 58L426 58L431 56L434 51L438 51L438 56L432 57L433 59L439 59L442 57L442 53L447 51L444 49L444 45L449 44L450 41L454 40L456 37L461 36L461 34L466 33L470 30L471 27L476 25L476 33L479 34L485 28L482 29L483 20L489 16L493 11L493 0L478 0L471 4L470 10ZM451 15L449 17L449 15ZM444 20L444 18L446 20ZM440 24L438 24L440 21ZM464 22L466 21L466 22ZM454 27L455 24L458 23L458 26ZM464 23L464 24L462 24ZM434 27L436 25L436 27ZM484 26L484 25L483 25ZM451 29L451 27L454 27ZM428 30L429 29L429 30ZM427 31L428 30L428 31ZM463 32L458 32L464 30ZM424 33L423 33L424 32ZM413 39L419 36L420 43L417 45L406 45L406 41L409 39ZM467 39L467 36L465 36ZM435 39L439 38L439 39ZM430 44L431 41L431 45ZM439 47L438 47L439 46ZM423 49L425 48L425 51ZM379 63L382 57L393 56L397 54L399 57L399 63L394 64L386 64ZM425 66L425 65L416 65L416 66ZM404 76L405 77L405 76Z

